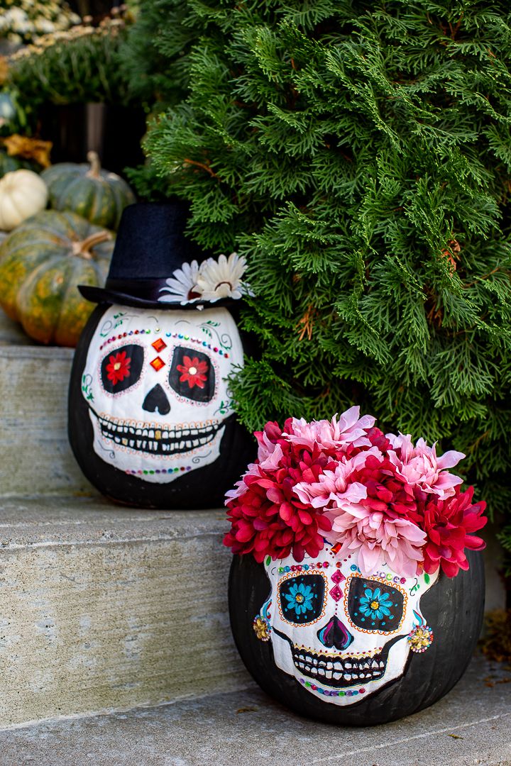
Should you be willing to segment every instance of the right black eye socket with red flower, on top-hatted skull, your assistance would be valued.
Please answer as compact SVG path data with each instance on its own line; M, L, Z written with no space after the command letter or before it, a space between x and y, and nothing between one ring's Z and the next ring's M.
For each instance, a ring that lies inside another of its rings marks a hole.
M176 394L194 401L211 401L215 396L215 368L207 354L179 345L174 349L169 384Z

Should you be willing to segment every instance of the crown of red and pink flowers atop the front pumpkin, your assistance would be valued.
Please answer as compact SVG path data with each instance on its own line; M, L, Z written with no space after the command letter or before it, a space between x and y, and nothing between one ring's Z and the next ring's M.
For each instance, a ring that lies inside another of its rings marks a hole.
M257 461L227 493L224 545L260 562L291 552L303 561L328 542L338 558L358 551L364 576L384 562L401 577L468 569L464 549L485 547L472 533L487 519L473 487L462 492L447 470L464 454L438 456L424 439L374 424L352 407L331 422L290 418L257 431Z

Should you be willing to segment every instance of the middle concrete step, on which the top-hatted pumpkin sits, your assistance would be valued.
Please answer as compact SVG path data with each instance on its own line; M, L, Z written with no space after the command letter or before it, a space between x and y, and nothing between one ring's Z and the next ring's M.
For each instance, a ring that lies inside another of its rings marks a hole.
M0 506L0 728L247 685L224 512Z

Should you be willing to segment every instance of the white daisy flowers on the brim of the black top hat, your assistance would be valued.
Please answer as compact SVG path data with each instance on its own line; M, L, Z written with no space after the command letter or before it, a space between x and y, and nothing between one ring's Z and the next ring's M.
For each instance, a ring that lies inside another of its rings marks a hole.
M231 253L228 258L220 255L218 260L208 258L200 265L192 260L190 264L182 264L166 280L168 286L160 290L160 293L165 294L158 300L161 303L180 303L182 306L198 300L208 303L215 303L222 298L239 300L250 292L242 280L246 267L246 260L237 253Z

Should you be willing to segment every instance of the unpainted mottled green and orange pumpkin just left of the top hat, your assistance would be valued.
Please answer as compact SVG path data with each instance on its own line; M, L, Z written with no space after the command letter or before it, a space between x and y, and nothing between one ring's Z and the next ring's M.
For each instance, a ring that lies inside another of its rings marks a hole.
M103 284L112 250L113 234L78 215L34 215L0 246L2 309L34 340L76 345L92 311L77 284Z

